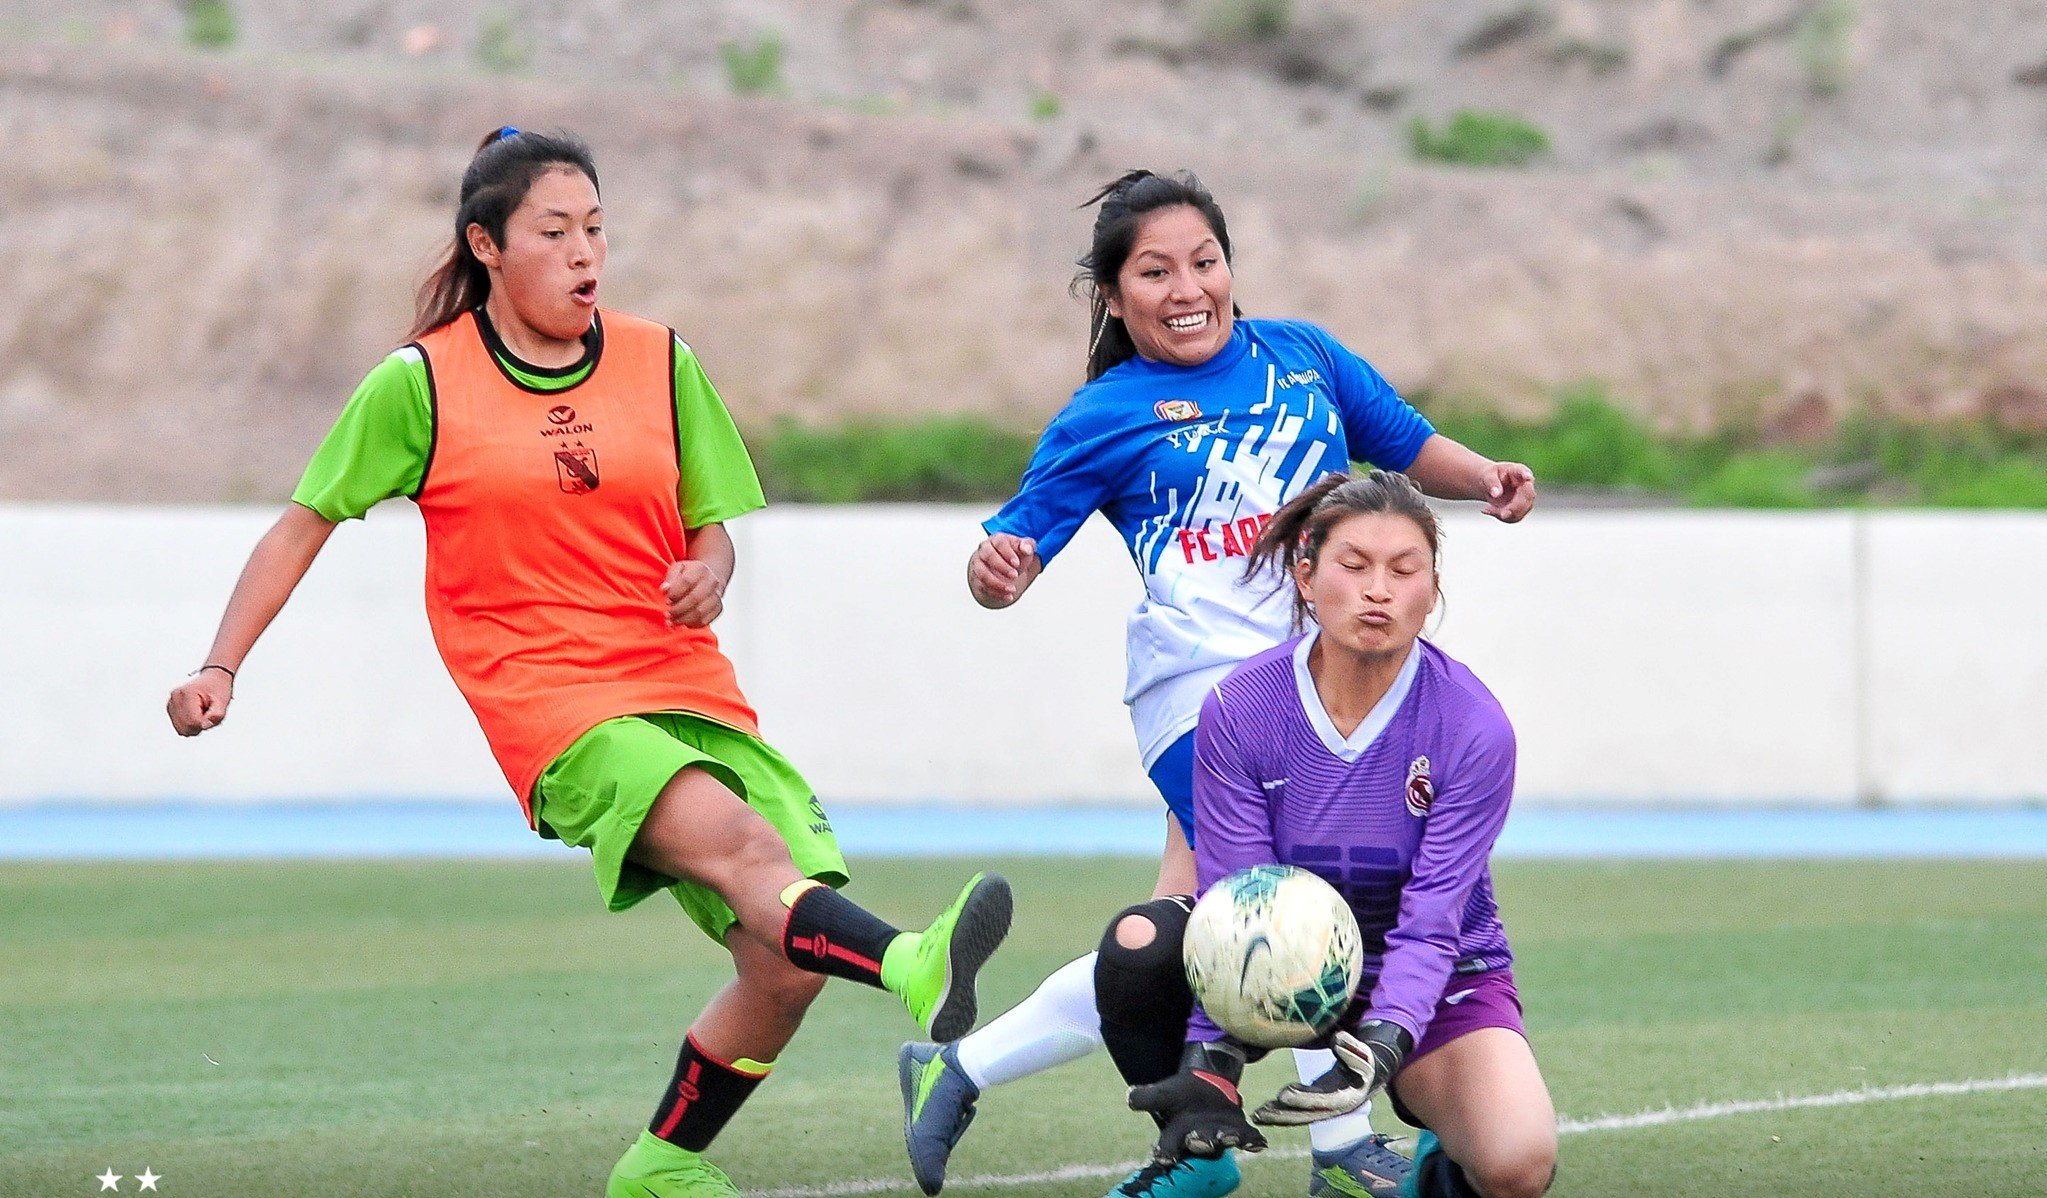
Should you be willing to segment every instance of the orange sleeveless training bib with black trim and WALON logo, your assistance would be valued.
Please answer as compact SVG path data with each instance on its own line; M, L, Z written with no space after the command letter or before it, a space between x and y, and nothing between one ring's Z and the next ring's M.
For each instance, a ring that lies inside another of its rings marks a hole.
M475 313L424 338L434 403L420 512L426 616L532 823L532 784L606 719L688 711L759 735L710 629L669 629L676 334L604 311L587 379L536 391Z

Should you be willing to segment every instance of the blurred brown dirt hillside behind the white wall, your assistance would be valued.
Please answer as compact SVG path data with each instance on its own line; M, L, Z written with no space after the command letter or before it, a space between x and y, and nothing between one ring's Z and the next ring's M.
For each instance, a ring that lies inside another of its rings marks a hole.
M1552 149L1419 162L1460 109ZM499 123L596 143L606 301L743 422L1040 422L1142 164L1402 389L2047 424L2047 2L0 0L0 498L287 494Z

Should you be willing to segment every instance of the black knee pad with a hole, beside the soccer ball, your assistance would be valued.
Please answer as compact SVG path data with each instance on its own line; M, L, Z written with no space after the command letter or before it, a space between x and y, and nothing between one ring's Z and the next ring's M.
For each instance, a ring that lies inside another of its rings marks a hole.
M1193 899L1169 895L1118 911L1101 936L1095 958L1095 1010L1101 1014L1101 1040L1116 1061L1124 1081L1146 1085L1171 1077L1179 1067L1187 1016L1193 1014L1193 991L1179 962L1179 944L1187 936L1187 915ZM1116 926L1140 915L1155 928L1150 944L1124 948Z

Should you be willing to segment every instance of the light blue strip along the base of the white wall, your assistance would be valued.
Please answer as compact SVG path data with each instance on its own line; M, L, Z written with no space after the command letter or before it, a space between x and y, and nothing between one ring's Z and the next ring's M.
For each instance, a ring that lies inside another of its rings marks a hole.
M831 807L847 856L1155 856L1148 807ZM1521 807L1505 858L2047 858L2047 809ZM0 860L567 858L510 803L39 803L0 807Z

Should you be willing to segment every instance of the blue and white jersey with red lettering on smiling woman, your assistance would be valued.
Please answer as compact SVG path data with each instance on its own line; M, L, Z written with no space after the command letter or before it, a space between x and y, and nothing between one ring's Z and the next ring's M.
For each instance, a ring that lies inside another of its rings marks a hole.
M1200 367L1134 356L1075 391L985 528L1048 563L1095 512L1122 534L1144 577L1124 702L1150 768L1232 666L1292 635L1281 580L1245 582L1259 528L1353 461L1406 469L1433 432L1329 332L1238 319Z

